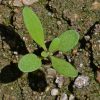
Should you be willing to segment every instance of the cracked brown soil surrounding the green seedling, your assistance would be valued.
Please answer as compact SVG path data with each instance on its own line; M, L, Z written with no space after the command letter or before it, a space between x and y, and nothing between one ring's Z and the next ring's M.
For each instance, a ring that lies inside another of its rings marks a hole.
M37 45L24 26L23 6L16 7L12 1L2 0L0 4L0 100L63 100L59 99L63 93L68 97L73 94L71 100L100 100L100 81L96 80L100 68L100 1L40 0L30 6L43 24L45 41L68 29L79 32L78 45L65 56L80 75L89 77L89 85L81 89L73 87L75 78L69 77L63 77L63 86L58 88L55 79L61 75L49 75L50 63L45 62L42 70L33 73L17 68L19 59L35 52ZM58 88L58 96L51 96L53 88Z

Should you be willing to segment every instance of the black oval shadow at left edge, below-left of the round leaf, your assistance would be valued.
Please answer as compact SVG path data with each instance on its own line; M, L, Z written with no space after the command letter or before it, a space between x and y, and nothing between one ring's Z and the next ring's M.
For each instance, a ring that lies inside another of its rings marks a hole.
M22 76L22 72L18 69L16 63L10 63L10 65L5 66L0 73L0 83L9 83L17 80Z

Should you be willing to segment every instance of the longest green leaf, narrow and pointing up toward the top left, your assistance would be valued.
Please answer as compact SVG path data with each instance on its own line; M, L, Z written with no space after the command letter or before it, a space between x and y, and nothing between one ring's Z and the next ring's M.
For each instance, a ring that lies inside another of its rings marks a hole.
M44 43L44 32L41 25L41 22L37 15L29 7L24 7L23 9L23 19L25 26L31 35L32 39L40 45L43 49L46 50Z

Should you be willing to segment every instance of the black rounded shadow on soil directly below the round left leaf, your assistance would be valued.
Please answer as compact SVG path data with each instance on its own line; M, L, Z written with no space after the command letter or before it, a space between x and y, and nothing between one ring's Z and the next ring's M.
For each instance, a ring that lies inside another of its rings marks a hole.
M45 73L43 73L43 71L41 70L36 70L34 72L29 73L28 81L31 89L37 92L43 92L47 87Z

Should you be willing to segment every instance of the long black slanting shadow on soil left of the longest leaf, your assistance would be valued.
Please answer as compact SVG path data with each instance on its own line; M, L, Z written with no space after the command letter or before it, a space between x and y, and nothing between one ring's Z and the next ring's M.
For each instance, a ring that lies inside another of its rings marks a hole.
M5 41L11 48L11 51L17 51L18 54L27 54L28 50L20 35L14 31L11 26L0 24L0 35L2 41ZM2 44L3 47L3 44Z

